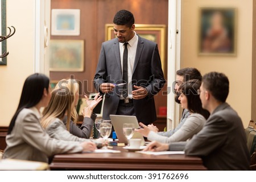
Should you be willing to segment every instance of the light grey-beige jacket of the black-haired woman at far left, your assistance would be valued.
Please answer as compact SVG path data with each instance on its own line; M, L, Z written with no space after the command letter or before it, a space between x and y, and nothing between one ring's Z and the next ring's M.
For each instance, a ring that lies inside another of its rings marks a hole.
M6 136L3 158L48 162L48 157L60 153L81 153L79 142L60 141L49 137L39 121L35 107L22 109L11 134Z

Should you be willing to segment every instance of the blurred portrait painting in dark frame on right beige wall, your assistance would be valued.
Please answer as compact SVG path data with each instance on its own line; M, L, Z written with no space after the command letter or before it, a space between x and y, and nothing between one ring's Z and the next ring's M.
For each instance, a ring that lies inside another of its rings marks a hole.
M199 55L236 56L237 10L200 8Z

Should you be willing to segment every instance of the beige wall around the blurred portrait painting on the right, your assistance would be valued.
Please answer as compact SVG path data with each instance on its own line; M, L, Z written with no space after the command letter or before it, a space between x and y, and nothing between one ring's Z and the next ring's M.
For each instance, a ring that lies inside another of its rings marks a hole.
M253 0L182 0L181 67L197 67L202 74L225 73L230 81L228 103L246 127L251 118ZM237 8L237 56L198 56L199 7Z

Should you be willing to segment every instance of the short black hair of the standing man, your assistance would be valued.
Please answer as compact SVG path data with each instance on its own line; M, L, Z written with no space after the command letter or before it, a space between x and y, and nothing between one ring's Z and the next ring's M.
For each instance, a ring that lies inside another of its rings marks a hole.
M127 10L120 10L115 14L114 24L117 24L118 26L126 26L131 28L134 24L134 16L130 11Z

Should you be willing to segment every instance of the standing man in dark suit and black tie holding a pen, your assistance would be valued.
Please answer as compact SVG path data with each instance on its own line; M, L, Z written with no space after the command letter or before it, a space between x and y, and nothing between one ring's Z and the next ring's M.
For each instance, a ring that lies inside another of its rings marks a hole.
M103 118L133 115L149 124L156 120L154 95L165 83L158 46L135 33L131 12L118 11L113 23L117 38L102 43L94 76L105 94Z

